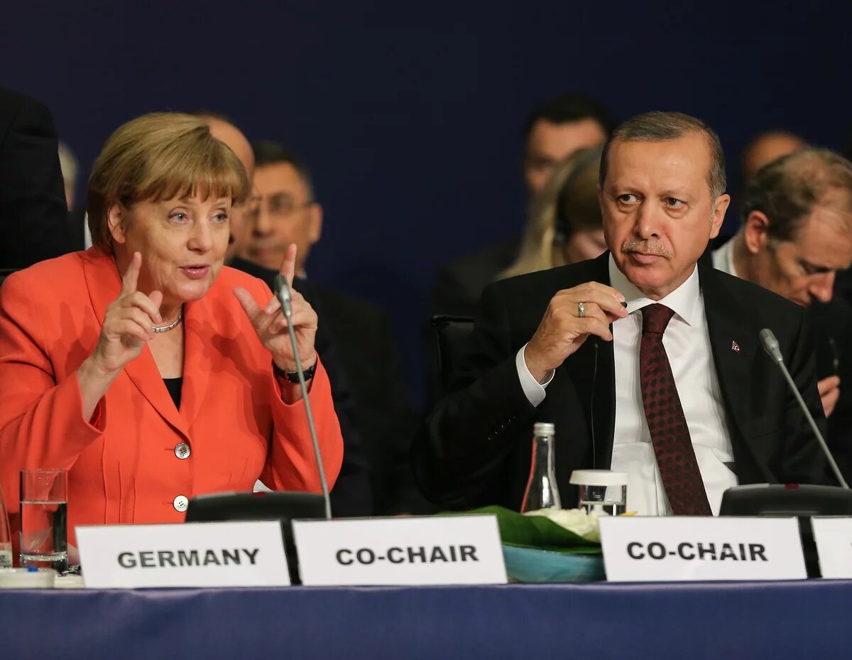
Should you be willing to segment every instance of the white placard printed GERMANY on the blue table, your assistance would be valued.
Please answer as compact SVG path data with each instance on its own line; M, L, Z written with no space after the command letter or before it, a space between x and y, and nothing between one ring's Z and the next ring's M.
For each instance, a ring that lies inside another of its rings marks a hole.
M277 521L79 526L89 588L290 584Z

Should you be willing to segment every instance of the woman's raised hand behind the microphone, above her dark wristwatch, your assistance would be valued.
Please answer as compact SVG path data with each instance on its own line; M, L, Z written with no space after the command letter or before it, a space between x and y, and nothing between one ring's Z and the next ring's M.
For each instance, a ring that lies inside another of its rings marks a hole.
M302 358L302 368L314 366L317 353L314 349L314 337L317 332L317 315L314 308L293 288L293 275L296 271L296 244L287 248L284 261L279 273L287 279L291 292L291 308L293 310L293 330L296 333L296 345ZM293 354L287 320L281 310L278 298L273 298L261 308L243 287L236 287L233 294L239 300L255 328L261 343L272 353L272 359L284 371L296 371L296 356Z

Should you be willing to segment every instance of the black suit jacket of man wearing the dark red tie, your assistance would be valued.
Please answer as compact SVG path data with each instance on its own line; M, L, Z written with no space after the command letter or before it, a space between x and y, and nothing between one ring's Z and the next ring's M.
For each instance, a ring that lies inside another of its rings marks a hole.
M500 281L483 293L472 350L454 391L414 444L418 483L448 507L518 508L530 468L533 422L556 424L556 480L563 501L578 468L606 469L613 452L613 344L592 338L556 369L538 408L527 401L515 353L533 337L553 294L609 282L601 257ZM758 333L774 330L809 409L823 424L804 312L761 287L699 266L713 360L740 483L825 483L825 462ZM732 350L733 342L740 346Z

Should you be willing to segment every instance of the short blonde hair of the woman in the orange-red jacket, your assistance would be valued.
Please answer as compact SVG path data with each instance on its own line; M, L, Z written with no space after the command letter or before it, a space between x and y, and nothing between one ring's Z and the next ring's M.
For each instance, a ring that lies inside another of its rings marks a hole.
M245 167L203 119L151 113L119 126L92 165L86 212L92 243L112 246L107 215L115 204L142 200L230 197L239 204L251 184Z

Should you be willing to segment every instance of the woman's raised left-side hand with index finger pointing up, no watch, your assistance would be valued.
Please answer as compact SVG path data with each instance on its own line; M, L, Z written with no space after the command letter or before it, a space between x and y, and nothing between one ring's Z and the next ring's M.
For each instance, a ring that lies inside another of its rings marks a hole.
M107 307L101 336L89 357L91 366L104 375L118 373L135 360L142 347L153 339L152 327L163 322L159 313L163 293L154 291L147 296L136 289L141 264L141 254L134 252L121 282L121 292Z

